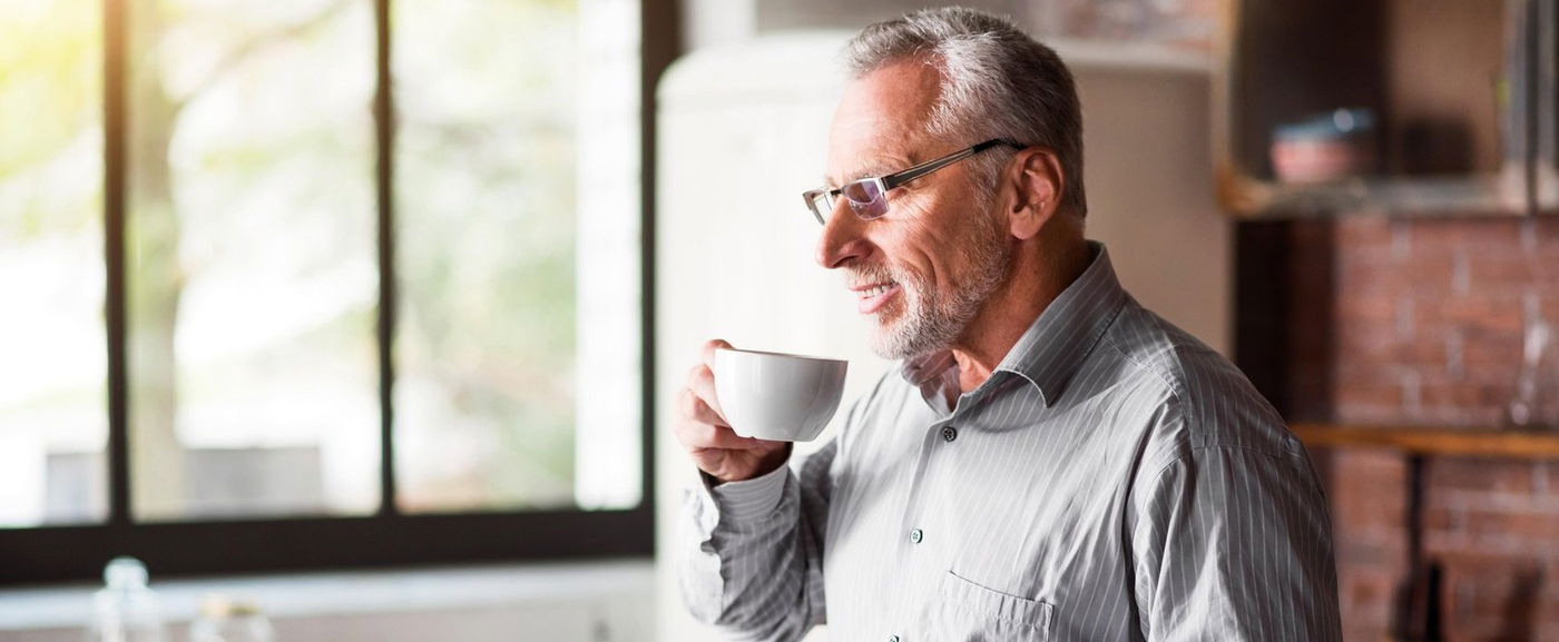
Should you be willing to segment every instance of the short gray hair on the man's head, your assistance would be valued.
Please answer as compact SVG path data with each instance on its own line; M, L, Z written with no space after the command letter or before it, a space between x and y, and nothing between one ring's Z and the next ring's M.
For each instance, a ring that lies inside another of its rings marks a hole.
M1082 187L1082 106L1071 72L1054 50L1009 19L962 6L920 9L861 30L845 45L853 78L923 58L942 75L929 134L974 145L1006 139L1051 150L1062 165L1062 212L1088 212ZM971 162L988 196L1010 154Z

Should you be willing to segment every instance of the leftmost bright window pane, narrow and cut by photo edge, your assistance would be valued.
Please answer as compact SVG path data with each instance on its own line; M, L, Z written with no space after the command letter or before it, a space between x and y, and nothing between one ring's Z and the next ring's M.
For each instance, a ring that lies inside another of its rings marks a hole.
M98 0L0 0L0 527L108 514Z

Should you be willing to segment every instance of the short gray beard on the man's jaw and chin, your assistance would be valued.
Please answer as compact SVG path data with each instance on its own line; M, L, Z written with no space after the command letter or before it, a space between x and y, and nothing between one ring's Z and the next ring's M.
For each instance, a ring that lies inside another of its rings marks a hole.
M937 293L918 274L893 274L893 280L904 288L904 313L871 332L873 352L898 360L951 347L985 301L1007 280L1012 245L1006 229L988 215L981 217L981 221L984 223L971 231L962 252L963 265L971 273L960 276L949 295Z

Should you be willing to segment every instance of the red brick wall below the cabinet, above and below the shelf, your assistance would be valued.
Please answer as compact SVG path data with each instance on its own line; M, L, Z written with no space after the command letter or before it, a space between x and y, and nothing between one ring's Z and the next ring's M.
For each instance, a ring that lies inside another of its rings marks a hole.
M1303 221L1289 235L1292 416L1495 429L1522 333L1559 324L1559 217ZM1388 633L1406 566L1406 464L1317 452L1347 639ZM1451 639L1559 642L1559 461L1431 458L1425 555Z

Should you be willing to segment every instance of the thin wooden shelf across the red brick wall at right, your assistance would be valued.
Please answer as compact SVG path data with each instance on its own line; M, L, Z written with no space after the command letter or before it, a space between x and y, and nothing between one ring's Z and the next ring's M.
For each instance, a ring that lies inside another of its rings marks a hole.
M1559 460L1559 430L1292 424L1311 447L1386 447L1414 455Z

